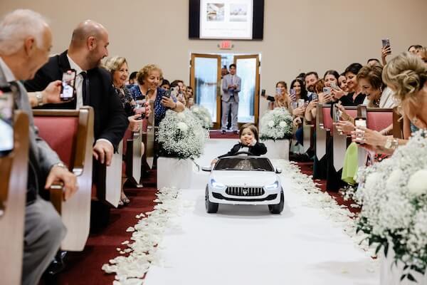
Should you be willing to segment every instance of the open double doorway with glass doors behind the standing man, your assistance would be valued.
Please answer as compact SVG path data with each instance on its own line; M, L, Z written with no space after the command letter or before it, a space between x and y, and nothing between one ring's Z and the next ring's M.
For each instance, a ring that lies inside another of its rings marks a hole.
M260 54L191 53L194 101L211 112L214 129L221 128L221 69L231 63L236 64L236 74L241 78L238 124L258 125Z

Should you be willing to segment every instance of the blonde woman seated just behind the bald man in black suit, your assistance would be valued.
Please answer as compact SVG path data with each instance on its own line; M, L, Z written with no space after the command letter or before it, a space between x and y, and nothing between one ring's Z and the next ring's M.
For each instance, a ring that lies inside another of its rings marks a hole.
M135 114L135 108L137 107L137 103L132 98L130 94L130 90L125 88L125 82L127 80L128 68L126 58L115 56L108 59L105 62L104 67L107 71L110 71L112 76L112 85L122 101L122 106L125 109L125 113L127 115L127 120L129 120L128 129L132 132L137 132L139 128L142 128L142 120L139 118L142 116L142 113ZM147 118L149 116L149 105L145 106L144 117ZM142 153L144 153L144 144L142 144ZM122 194L119 201L119 206L124 206L125 204L129 204L130 199L126 197L125 192L122 188Z

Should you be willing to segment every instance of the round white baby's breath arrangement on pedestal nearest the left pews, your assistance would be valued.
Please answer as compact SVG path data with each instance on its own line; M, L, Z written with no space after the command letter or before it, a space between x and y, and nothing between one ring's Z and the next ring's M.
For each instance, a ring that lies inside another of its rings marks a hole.
M180 159L200 157L208 135L199 119L189 110L176 113L167 110L159 125L157 140L162 148L162 155Z

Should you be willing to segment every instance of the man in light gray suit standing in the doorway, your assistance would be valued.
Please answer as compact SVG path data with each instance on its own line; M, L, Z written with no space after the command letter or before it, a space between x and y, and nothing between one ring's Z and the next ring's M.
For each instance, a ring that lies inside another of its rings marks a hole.
M226 133L227 116L231 110L231 128L233 128L233 133L237 134L238 93L241 90L241 78L236 76L236 64L234 63L230 65L230 73L222 79L222 90L221 133Z

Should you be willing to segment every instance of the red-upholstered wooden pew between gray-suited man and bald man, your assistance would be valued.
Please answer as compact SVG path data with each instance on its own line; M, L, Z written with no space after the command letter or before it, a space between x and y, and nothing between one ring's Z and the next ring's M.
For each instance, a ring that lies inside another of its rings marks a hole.
M51 202L60 213L67 234L65 251L82 251L89 235L93 175L93 108L33 110L41 138L55 150L78 179L78 191L63 201L61 187L51 189Z

